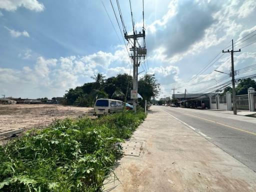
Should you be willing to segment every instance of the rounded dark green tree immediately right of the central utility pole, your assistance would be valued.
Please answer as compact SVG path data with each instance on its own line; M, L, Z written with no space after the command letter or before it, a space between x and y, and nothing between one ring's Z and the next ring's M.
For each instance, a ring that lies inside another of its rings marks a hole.
M151 100L159 95L160 84L155 79L154 74L145 74L138 81L138 92L142 96L142 101L140 105L144 106L145 100Z

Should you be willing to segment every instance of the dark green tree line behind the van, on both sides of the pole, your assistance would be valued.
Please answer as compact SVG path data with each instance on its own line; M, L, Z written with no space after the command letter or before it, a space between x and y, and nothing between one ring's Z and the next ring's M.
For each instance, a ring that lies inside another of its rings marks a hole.
M124 73L105 79L101 73L91 77L94 81L84 83L82 86L69 88L64 95L64 104L76 106L93 106L97 98L112 98L122 101L130 100L132 89L132 76ZM155 98L159 94L159 83L154 74L145 74L138 80L138 93L142 96L140 105L144 100Z

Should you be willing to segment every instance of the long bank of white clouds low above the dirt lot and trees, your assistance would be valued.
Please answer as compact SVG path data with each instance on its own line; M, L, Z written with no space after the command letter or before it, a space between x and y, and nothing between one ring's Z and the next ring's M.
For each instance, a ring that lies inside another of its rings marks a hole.
M92 81L90 76L102 72L106 77L129 73L126 50L120 46L114 53L98 51L83 56L44 58L38 56L32 67L22 69L0 68L0 92L12 96L41 97L61 96L68 88ZM29 51L28 51L29 52ZM126 53L125 55L121 54ZM118 67L115 66L118 63Z

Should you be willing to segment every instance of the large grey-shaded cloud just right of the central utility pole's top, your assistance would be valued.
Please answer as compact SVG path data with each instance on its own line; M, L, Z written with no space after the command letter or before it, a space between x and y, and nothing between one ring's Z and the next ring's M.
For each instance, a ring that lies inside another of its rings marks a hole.
M211 15L214 10L212 4L171 1L167 13L146 26L148 49L160 48L167 57L186 51L215 22Z

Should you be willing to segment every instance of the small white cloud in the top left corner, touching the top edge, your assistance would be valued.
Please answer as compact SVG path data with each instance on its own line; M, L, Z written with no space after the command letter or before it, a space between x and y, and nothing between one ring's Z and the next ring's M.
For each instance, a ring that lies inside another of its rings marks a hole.
M0 0L0 8L7 11L15 11L19 7L25 7L36 12L44 9L43 4L37 0Z

